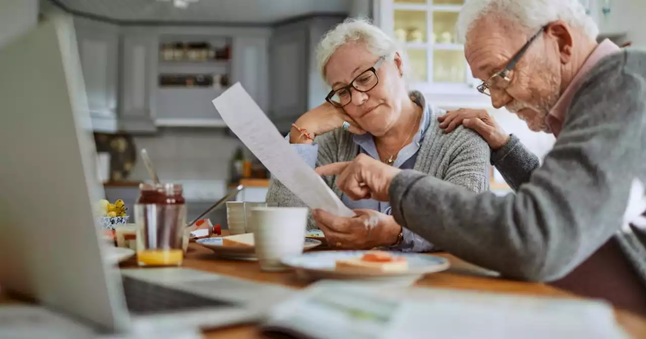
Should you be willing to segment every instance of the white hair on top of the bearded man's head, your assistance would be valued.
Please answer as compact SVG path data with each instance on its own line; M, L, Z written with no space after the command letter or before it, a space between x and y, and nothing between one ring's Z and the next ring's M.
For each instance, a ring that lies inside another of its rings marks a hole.
M484 15L508 19L521 25L528 34L557 20L578 27L591 39L599 34L599 28L579 0L466 0L457 19L457 36L462 43L474 22Z

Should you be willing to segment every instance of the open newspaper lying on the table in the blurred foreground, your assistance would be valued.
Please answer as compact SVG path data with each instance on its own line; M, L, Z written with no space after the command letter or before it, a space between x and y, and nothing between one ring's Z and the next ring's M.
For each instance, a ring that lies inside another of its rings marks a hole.
M628 338L604 302L320 282L271 310L296 338Z

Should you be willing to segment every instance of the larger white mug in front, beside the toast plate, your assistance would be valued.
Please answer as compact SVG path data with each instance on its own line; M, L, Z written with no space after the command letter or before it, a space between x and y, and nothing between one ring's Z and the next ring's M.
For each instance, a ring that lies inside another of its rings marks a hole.
M280 260L303 252L306 207L255 207L251 209L251 223L256 258L263 271L284 271Z

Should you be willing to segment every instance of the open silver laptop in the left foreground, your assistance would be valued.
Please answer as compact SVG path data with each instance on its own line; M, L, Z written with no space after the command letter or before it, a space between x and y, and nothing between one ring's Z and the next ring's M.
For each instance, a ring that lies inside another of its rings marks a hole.
M0 287L100 333L256 322L294 293L184 268L105 258L102 198L72 20L0 47Z

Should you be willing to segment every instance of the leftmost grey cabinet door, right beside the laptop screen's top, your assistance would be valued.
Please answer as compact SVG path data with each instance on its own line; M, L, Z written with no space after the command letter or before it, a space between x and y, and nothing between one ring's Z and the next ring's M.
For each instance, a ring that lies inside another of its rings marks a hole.
M81 70L94 130L117 129L119 28L83 19L74 21Z

